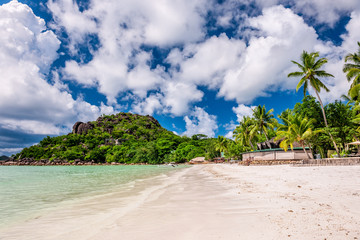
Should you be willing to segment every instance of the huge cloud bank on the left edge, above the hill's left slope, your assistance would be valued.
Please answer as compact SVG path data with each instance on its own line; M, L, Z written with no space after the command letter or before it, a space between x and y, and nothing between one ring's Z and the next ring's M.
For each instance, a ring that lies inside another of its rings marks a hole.
M59 46L55 34L27 5L11 1L0 6L1 128L59 134L79 117L90 120L113 111L74 100L62 84L47 82Z

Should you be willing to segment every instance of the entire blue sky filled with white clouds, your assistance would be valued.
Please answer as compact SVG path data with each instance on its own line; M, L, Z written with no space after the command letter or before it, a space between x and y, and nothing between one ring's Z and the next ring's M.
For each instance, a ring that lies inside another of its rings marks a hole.
M339 100L359 29L359 0L0 0L0 155L118 112L231 138L254 106L302 100L303 50Z

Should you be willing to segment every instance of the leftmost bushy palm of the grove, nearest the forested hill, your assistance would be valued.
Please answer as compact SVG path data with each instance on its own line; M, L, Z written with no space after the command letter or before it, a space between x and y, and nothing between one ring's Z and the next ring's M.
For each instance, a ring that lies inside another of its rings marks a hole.
M253 127L253 119L251 117L243 117L240 124L234 130L235 141L239 142L242 146L251 146L253 150L255 147L252 143L254 135L251 133Z

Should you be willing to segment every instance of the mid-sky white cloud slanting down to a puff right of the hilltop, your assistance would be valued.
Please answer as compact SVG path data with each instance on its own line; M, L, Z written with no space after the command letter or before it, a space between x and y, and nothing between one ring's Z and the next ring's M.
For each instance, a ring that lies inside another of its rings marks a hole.
M171 79L161 87L166 112L187 113L189 105L202 100L204 93L197 86L218 89L226 72L239 64L245 44L225 34L202 43L188 44L183 50L174 48L166 61L171 64Z

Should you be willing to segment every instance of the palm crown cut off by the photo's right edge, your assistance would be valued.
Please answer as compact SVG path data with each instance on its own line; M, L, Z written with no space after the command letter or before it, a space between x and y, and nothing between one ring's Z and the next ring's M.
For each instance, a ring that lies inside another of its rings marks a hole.
M350 90L351 88L360 84L360 42L358 42L358 45L359 45L359 49L357 53L346 55L345 64L343 67L343 71L344 73L346 73L347 80L349 82L352 80Z

